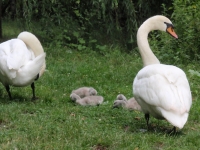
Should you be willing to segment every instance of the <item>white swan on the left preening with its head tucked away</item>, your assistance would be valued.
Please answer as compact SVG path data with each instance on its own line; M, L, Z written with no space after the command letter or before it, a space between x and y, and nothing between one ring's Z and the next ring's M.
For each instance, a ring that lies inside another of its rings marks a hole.
M30 32L22 32L17 39L0 44L0 82L10 99L10 85L31 85L32 99L36 99L34 81L44 73L45 56L40 41Z

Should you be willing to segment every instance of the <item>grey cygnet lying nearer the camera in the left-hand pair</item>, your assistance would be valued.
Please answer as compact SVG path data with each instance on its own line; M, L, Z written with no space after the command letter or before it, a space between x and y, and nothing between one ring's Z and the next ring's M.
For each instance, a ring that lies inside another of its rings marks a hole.
M70 98L75 101L77 104L82 106L96 106L103 103L103 97L102 96L86 96L84 98L80 98L75 93L72 93L70 95Z

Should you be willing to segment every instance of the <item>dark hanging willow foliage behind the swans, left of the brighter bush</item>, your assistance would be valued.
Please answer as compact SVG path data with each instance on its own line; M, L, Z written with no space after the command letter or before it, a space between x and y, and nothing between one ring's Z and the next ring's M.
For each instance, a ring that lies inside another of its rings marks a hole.
M5 6L8 0L3 2ZM129 50L136 47L138 26L160 13L162 3L166 7L171 5L167 0L22 0L15 7L16 18L24 29L43 31L51 45L80 51L90 47L104 53L101 51L105 51L105 44L118 44ZM9 12L9 8L5 9L4 17Z

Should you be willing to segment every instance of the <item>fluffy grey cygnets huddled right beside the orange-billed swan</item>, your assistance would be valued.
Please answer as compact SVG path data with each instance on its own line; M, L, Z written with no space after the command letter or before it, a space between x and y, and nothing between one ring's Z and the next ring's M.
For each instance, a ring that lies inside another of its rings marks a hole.
M137 103L134 97L129 100L123 94L117 96L117 100L113 103L113 108L123 107L129 110L138 110L141 111L141 106Z

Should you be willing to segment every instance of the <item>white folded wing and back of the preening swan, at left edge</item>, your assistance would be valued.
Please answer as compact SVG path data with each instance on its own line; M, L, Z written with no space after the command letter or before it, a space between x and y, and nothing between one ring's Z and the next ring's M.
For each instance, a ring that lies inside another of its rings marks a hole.
M12 39L0 44L1 74L10 79L15 78L16 72L33 58L34 54L19 39Z

